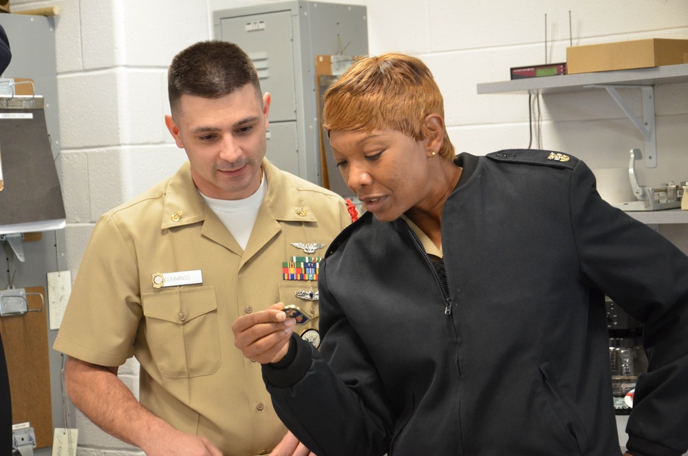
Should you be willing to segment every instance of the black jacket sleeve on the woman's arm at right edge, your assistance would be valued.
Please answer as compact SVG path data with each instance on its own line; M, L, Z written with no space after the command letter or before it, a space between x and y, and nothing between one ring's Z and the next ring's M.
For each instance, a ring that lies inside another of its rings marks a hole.
M688 258L666 238L610 207L583 163L574 169L572 225L585 276L643 322L647 374L627 424L635 455L688 449Z

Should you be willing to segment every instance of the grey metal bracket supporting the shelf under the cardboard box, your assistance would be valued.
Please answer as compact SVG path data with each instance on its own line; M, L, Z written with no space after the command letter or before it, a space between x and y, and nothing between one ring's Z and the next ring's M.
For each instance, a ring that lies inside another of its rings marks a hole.
M625 85L625 84L594 84L586 85L585 88L602 88L607 90L616 104L621 107L626 116L630 118L633 125L643 134L645 138L645 167L657 167L657 136L654 124L654 87L652 85ZM618 88L640 89L643 96L643 120L638 118L631 110L630 106L621 97Z

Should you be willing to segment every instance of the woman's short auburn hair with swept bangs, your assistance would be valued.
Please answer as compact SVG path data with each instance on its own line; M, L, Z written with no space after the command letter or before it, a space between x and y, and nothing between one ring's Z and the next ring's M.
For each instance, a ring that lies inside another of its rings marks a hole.
M365 131L389 127L416 141L427 138L425 118L444 119L442 94L429 68L418 58L388 52L359 59L323 95L323 127ZM444 127L440 155L454 159Z

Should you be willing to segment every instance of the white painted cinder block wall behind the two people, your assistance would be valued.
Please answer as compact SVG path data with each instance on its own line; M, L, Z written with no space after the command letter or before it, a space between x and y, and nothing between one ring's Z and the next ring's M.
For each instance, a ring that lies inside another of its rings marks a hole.
M56 18L67 263L76 276L98 216L171 174L185 156L163 122L166 68L187 45L213 37L212 12L264 1L12 0L12 10L59 6ZM566 61L569 11L574 45L643 38L688 39L685 0L352 0L367 5L372 54L400 51L427 62L445 97L459 152L526 147L528 97L477 95L476 84L509 79L509 68ZM547 41L545 48L545 15ZM638 90L623 90L641 113ZM658 166L636 168L643 185L688 180L688 84L658 87ZM279 103L275 100L274 103ZM603 91L541 100L542 147L592 168L627 166L643 138ZM536 143L537 145L537 143ZM663 232L688 250L686 227ZM230 336L228 336L230 337ZM120 369L138 393L138 365ZM135 455L78 414L78 454Z

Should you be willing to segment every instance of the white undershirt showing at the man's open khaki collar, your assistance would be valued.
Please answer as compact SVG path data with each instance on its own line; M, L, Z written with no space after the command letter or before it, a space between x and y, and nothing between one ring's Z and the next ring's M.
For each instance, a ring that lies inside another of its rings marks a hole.
M263 200L268 194L268 179L263 175L263 182L257 191L243 200L216 200L201 194L208 207L213 209L224 226L234 236L241 249L246 250L248 238L258 217Z

